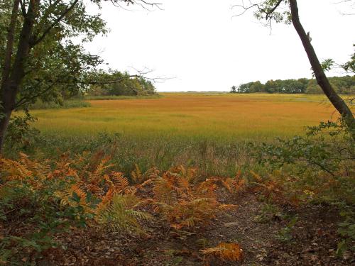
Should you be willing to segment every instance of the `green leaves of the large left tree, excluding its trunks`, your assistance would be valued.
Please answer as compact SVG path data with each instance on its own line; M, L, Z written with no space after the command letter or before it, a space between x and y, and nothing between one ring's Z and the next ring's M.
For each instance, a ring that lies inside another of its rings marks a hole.
M35 14L33 26L33 40L40 40L40 42L31 46L26 57L24 66L26 75L18 89L16 109L26 109L38 99L60 102L77 94L81 89L80 82L84 79L85 73L102 62L96 55L87 53L82 44L70 40L70 38L80 38L84 43L92 40L94 35L107 33L102 18L87 13L87 6L82 1L77 1L75 7L62 18L62 23L53 24L53 18L59 16L73 3L74 1L63 1L60 4L53 4L51 1L41 1L38 6L39 10ZM23 9L27 11L29 5L29 1L24 1ZM11 8L10 3L9 9L4 10L7 19L1 21L1 26L9 25ZM18 45L21 23L27 15L19 11L17 16L15 45ZM50 28L51 25L54 25L53 28ZM50 28L50 31L46 32L47 28ZM42 35L45 38L40 39ZM4 38L2 41L6 43L6 35L1 36ZM5 58L4 52L5 50L0 51L1 60ZM13 57L16 52L17 50L13 49ZM2 63L4 62L1 61L1 65Z

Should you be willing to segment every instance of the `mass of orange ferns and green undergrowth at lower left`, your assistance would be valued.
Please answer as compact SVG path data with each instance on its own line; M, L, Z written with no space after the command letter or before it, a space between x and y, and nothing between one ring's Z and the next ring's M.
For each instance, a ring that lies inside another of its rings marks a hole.
M21 221L17 233L1 241L9 261L38 260L44 250L60 245L56 234L78 227L146 235L138 220L151 217L136 210L136 190L110 167L99 154L77 160L62 155L55 165L24 154L18 161L0 159L0 218L9 226Z

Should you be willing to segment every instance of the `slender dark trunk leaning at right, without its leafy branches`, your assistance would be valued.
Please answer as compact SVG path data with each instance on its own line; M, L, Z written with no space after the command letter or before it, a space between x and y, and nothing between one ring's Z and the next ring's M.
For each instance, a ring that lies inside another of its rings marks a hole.
M290 0L290 9L293 26L295 27L297 34L300 36L303 48L305 48L305 52L307 53L308 59L310 60L312 70L315 73L317 83L322 88L324 94L327 95L329 101L333 104L335 109L337 109L337 111L339 111L339 113L342 115L349 129L354 132L355 122L353 113L349 109L349 106L346 105L345 101L337 94L337 92L334 91L332 85L329 83L329 80L324 73L324 70L322 69L320 60L318 60L315 49L311 44L311 40L305 32L302 24L300 23L297 0ZM354 136L354 133L352 135Z

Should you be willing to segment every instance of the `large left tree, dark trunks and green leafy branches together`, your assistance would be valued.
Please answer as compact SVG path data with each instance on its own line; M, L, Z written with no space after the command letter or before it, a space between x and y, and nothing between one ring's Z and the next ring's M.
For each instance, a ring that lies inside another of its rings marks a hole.
M106 0L85 1L101 8ZM148 4L146 1L139 4ZM111 0L135 4L136 0ZM58 99L75 92L102 60L82 43L105 34L99 14L87 13L84 0L3 0L0 4L0 152L14 110L36 99ZM157 4L148 4L156 6ZM73 38L81 38L79 44Z

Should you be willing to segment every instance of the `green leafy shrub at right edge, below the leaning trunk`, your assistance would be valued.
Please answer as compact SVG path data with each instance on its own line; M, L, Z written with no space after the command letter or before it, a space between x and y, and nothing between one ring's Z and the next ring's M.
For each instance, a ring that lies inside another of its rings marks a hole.
M352 130L342 121L320 123L309 127L306 137L279 139L279 144L263 144L256 155L261 163L271 167L297 164L297 172L320 171L332 177L349 176L354 164L354 139Z

